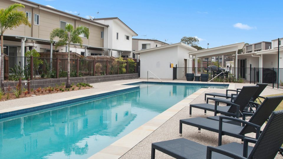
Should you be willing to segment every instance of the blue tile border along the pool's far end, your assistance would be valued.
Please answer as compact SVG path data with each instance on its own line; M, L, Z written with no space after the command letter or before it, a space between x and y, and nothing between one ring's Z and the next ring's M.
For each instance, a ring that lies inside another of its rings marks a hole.
M215 83L182 83L182 82L149 82L149 81L127 83L124 85L136 85L136 84L199 85L199 86L227 86L227 87L229 86L229 84L215 84Z

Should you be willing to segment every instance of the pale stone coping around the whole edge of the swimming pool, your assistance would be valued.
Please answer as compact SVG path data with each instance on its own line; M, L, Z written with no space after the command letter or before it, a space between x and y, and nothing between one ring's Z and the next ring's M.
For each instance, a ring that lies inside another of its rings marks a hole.
M121 87L113 90L107 90L107 91L100 91L100 92L95 92L95 93L90 93L90 94L85 94L85 95L78 95L78 96L73 96L73 97L67 97L67 98L61 98L57 100L51 100L47 102L40 102L40 103L35 103L35 104L30 104L30 105L23 105L19 107L13 107L13 108L7 108L7 109L2 109L0 110L0 114L2 113L9 113L9 112L14 112L14 113L19 113L20 110L26 110L27 112L25 113L20 113L18 115L23 115L26 113L29 113L28 111L31 110L30 112L35 112L32 109L40 106L45 106L45 105L51 105L51 107L56 107L52 106L54 103L58 103L58 106L62 103L68 104L68 101L74 101L76 99L83 100L84 97L89 97L89 98L94 98L94 95L101 95L105 96L105 94L111 94L111 93L116 93L119 91L127 91L127 90L133 90L135 88L138 88L139 86L135 85L128 85L128 84L135 84L139 82L148 82L148 81L135 81L135 82L127 82L127 83L122 83L122 84L116 84L116 85L126 85L127 87ZM149 81L151 82L151 81ZM207 83L191 83L191 82L183 82L183 81L177 81L177 82L153 82L153 83L189 83L189 84L207 84ZM216 84L216 85L221 85L219 83L210 83L210 84ZM222 84L223 85L223 84ZM226 85L229 85L227 89L235 89L235 84L230 84L226 83ZM190 102L192 102L196 97L198 97L200 94L202 94L206 90L213 90L214 88L200 88L198 91L194 92L193 94L189 95L185 99L181 100L177 104L173 105L172 107L168 108L164 112L160 113L156 117L152 118L148 122L144 123L140 127L136 128L129 134L123 136L119 140L115 141L111 145L107 146L103 150L95 153L92 155L90 158L120 158L122 155L127 153L129 150L131 150L135 145L137 145L141 140L146 138L148 135L150 135L152 132L154 132L158 127L160 127L162 124L164 124L167 120L169 120L171 117L176 115L180 110L182 110L185 106L189 106ZM84 99L85 100L85 99ZM49 107L49 108L51 108ZM48 109L48 108L44 108ZM39 110L44 110L44 109L39 109ZM17 115L12 115L11 117L14 117ZM2 119L9 119L9 117L4 117Z

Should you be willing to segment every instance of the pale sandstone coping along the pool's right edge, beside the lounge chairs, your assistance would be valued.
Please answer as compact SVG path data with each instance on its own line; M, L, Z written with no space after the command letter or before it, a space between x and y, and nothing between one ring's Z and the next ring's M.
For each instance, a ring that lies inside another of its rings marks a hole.
M147 82L147 81L138 81L138 82L128 82L119 85L127 85L132 83L139 83L139 82ZM168 83L168 82L167 82ZM184 82L170 82L170 83L184 83ZM205 83L204 83L205 84ZM227 89L235 90L235 84L228 84ZM210 90L211 88L200 88L193 94L189 95L185 99L181 100L177 104L173 105L172 107L168 108L164 112L160 113L159 115L155 116L148 122L144 123L140 127L136 128L135 130L131 131L127 135L123 136L122 138L116 140L114 143L110 144L106 148L100 150L99 152L95 153L89 159L118 159L127 153L129 150L134 148L139 142L144 140L147 136L149 136L152 132L157 130L161 125L167 122L171 117L176 115L179 111L181 111L184 107L189 106L190 102L195 100L199 95L201 95L206 90Z

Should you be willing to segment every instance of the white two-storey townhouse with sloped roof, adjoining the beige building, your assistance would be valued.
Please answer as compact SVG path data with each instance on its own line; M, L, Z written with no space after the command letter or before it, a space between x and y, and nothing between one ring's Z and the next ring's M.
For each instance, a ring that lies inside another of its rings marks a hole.
M132 37L137 36L130 27L117 17L98 18L93 21L108 25L108 29L104 29L104 47L108 52L108 56L113 57L133 57Z

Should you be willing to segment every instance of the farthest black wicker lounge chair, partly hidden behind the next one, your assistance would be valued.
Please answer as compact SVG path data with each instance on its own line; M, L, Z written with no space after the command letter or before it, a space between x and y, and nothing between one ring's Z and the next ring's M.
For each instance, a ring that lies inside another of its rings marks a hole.
M267 86L267 83L257 83L256 86L259 86L259 89L254 93L253 99L256 100L258 97L260 97L259 95L261 94L261 92L265 89L265 87ZM205 93L204 94L204 100L206 101L206 96L213 96L213 97L223 97L223 98L231 98L231 95L228 94L228 91L234 91L236 92L236 94L238 94L239 90L241 89L237 89L237 90L226 90L226 94L224 93ZM261 98L261 97L260 97ZM264 97L262 97L264 98Z

